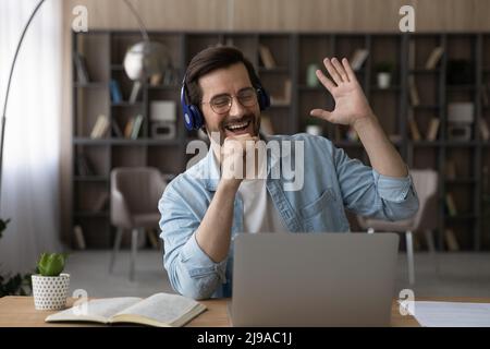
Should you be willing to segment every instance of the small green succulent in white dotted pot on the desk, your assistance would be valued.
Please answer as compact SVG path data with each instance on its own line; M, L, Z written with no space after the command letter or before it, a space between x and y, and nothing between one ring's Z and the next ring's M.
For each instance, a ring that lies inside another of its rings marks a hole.
M42 253L33 278L34 305L37 310L59 310L66 305L70 274L62 273L65 253Z

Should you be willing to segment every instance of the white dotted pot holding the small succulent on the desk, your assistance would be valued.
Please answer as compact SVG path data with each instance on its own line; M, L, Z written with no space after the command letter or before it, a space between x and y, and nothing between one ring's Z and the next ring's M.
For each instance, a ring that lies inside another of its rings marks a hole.
M33 275L34 306L36 310L60 310L66 306L70 274L60 276Z

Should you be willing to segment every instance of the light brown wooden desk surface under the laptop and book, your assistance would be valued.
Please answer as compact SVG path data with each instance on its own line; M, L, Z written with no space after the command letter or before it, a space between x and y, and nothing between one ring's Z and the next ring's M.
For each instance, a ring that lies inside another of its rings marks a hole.
M419 301L446 301L446 302L486 302L487 298L424 298ZM69 299L71 306L74 300ZM224 327L230 326L228 317L228 299L216 299L200 301L208 310L191 321L189 327ZM32 297L3 297L0 298L0 327L48 327L48 326L103 326L96 323L45 323L46 316L57 311L37 311L34 309ZM391 309L391 325L393 327L416 327L419 326L413 316L402 316L399 312L399 304L393 301Z

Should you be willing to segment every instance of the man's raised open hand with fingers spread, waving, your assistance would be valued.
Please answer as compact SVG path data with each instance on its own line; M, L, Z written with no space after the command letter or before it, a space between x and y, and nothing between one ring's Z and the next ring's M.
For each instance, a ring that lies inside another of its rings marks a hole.
M351 127L355 127L360 120L373 118L372 110L347 59L342 59L341 63L336 58L331 60L326 58L323 63L333 82L321 70L317 70L317 77L332 94L335 108L332 111L314 109L310 115L332 123Z

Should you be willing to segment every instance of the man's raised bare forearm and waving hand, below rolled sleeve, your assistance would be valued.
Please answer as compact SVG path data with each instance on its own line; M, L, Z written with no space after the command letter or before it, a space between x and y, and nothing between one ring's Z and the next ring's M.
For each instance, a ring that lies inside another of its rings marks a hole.
M323 62L333 82L320 70L317 71L317 76L332 94L335 108L332 111L314 109L311 116L354 128L373 169L383 176L406 177L408 174L406 165L369 107L348 61L344 58L341 63L335 58L331 60L326 58Z

